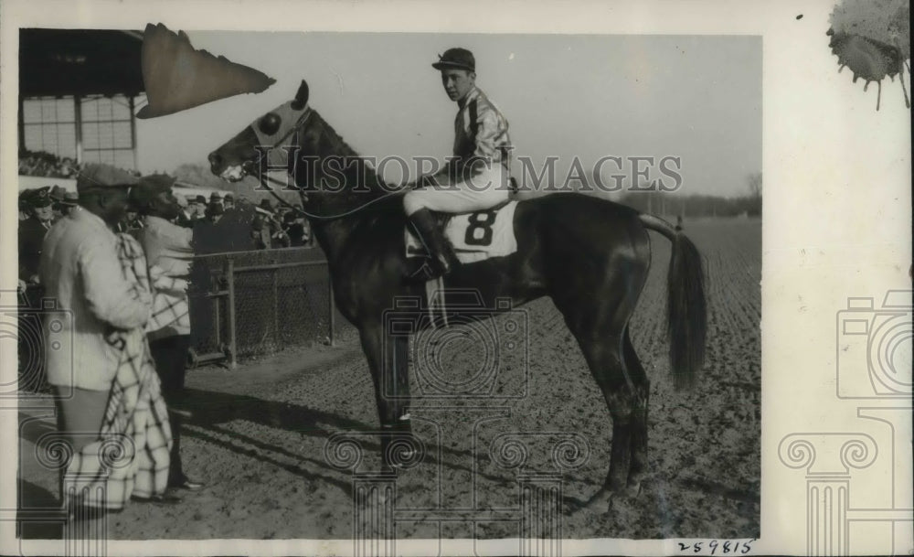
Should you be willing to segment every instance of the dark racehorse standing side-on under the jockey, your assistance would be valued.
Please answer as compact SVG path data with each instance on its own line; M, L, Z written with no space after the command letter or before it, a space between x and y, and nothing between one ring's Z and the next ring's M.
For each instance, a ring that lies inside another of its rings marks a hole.
M307 99L303 81L293 101L268 112L211 153L211 169L231 180L259 176L268 166L275 167L269 162L273 154L282 153L302 193L314 236L326 253L339 311L358 328L381 426L410 434L409 340L388 336L382 318L395 297L425 296L424 284L405 278L412 264L403 244L402 192L392 194ZM265 151L258 145L277 148ZM333 172L328 170L331 166L320 164L332 158L337 160ZM302 164L305 160L309 164ZM677 389L695 383L704 359L707 317L701 257L692 241L666 221L576 193L521 201L514 230L515 253L458 265L445 277L448 292L473 289L493 308L496 298L510 298L513 307L543 295L552 298L578 339L612 417L609 473L590 503L606 502L612 493L637 493L647 471L650 382L632 347L628 325L651 264L647 230L673 243L667 333ZM399 396L386 395L391 391L385 378L391 377Z

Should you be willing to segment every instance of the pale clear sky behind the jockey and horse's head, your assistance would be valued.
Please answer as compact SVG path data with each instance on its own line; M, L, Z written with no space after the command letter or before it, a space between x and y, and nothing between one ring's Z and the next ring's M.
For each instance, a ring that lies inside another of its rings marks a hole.
M465 35L188 32L195 48L263 71L267 91L137 120L143 173L207 155L307 80L310 104L361 155L451 155L456 105L430 63L469 48L476 84L504 113L515 157L539 171L558 157L680 157L681 193L739 196L761 170L761 38L752 36ZM625 159L627 160L627 159ZM641 166L646 166L644 163ZM663 175L651 171L651 178ZM515 161L515 174L520 166ZM631 163L622 172L631 177ZM385 177L402 181L399 166ZM642 182L634 178L634 182ZM667 178L667 181L668 180ZM625 179L628 187L632 178Z

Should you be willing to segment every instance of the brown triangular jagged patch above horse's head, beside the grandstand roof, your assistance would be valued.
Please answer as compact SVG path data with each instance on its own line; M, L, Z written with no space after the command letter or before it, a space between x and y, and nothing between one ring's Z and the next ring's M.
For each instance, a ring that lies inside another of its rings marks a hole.
M154 118L240 93L265 91L276 80L223 56L197 50L187 35L148 24L143 32L143 83L148 104L137 118Z

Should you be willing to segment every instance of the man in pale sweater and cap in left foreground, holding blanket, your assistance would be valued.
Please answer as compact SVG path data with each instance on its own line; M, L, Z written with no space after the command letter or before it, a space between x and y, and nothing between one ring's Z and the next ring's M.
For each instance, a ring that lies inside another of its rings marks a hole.
M77 178L79 206L45 237L39 264L45 295L68 319L49 327L47 377L57 396L58 428L73 453L94 443L122 361L112 331L143 327L148 299L136 295L123 273L113 226L122 219L135 178L107 165L87 165Z

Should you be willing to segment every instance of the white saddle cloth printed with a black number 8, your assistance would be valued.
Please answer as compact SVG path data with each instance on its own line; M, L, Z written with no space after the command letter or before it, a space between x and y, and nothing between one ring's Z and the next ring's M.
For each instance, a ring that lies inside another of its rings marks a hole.
M472 213L439 213L445 220L444 236L451 241L457 259L462 263L480 262L491 257L504 257L517 251L514 213L517 201L474 211ZM406 256L425 256L425 246L406 227Z

